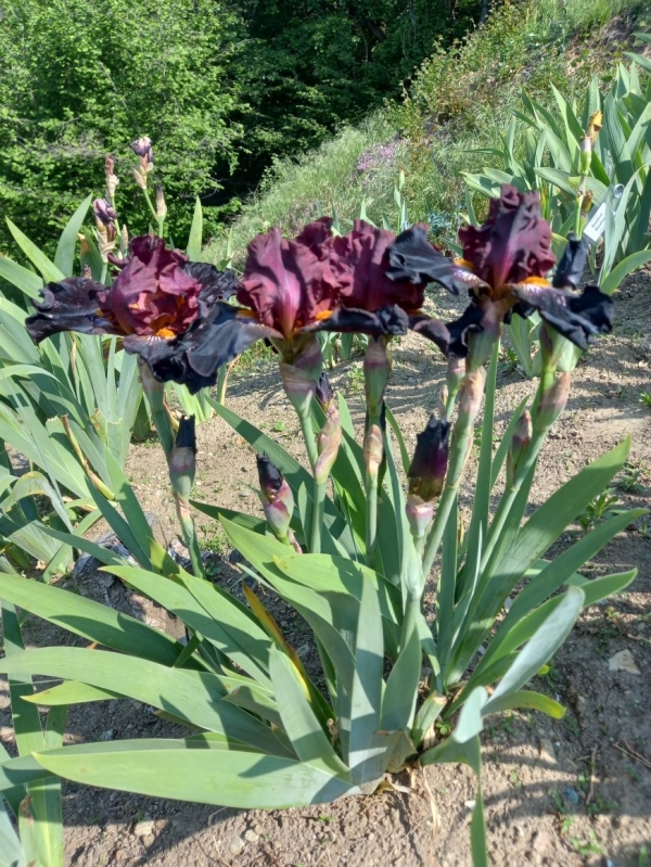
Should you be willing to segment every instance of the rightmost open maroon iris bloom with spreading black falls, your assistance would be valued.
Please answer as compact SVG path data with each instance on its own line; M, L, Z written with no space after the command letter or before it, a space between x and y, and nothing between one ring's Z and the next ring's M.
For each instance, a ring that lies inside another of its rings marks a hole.
M483 226L459 230L463 258L450 262L426 235L412 227L396 239L390 251L393 280L437 282L458 294L470 290L471 305L460 320L448 326L458 340L457 355L469 331L482 330L485 316L509 321L513 313L527 317L538 310L541 318L582 349L591 337L612 330L612 302L598 286L576 289L587 262L587 242L570 237L551 282L546 279L556 263L551 229L540 216L538 193L521 193L505 184L499 199L490 200Z

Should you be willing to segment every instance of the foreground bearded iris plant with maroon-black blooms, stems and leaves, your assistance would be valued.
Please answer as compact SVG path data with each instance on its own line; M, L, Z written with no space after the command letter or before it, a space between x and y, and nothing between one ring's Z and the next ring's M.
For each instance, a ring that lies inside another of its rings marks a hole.
M571 377L556 370L559 343L566 337L585 348L611 329L612 305L597 286L577 290L585 265L580 241L569 240L552 271L550 230L534 193L505 187L487 221L465 227L460 239L463 259L454 262L427 242L423 226L395 238L359 221L340 237L329 219L321 219L293 240L278 229L258 235L240 280L188 263L162 241L136 239L111 288L81 279L46 286L37 314L27 321L35 340L66 329L120 334L152 382L174 380L199 391L214 384L218 369L255 341L272 343L288 398L301 418L311 473L260 430L213 403L258 452L265 520L193 505L218 518L243 557L241 570L308 624L322 686L311 680L261 598L247 588L247 609L204 579L190 517L193 425L184 420L169 466L194 575L166 559L155 543L151 563L157 564L156 573L116 566L111 557L106 562L130 587L183 620L188 646L165 643L161 662L157 646L155 652L148 648L149 655L143 653L133 670L137 677L118 677L124 654L131 650L120 643L122 632L113 630L122 653L58 648L48 661L41 651L28 651L18 662L8 656L0 671L69 679L82 671L84 683L75 685L79 700L95 699L97 688L108 686L114 694L124 692L167 713L174 709L175 719L204 734L165 750L157 750L155 741L145 750L142 741L127 741L120 744L120 763L98 744L43 750L31 760L30 773L42 767L89 785L157 798L283 807L370 793L387 785L386 773L417 762L464 762L478 780L473 862L487 866L480 779L483 719L515 707L562 715L558 702L523 687L553 655L583 605L633 581L635 571L588 582L576 570L641 512L614 515L556 561L542 559L626 459L625 443L565 483L522 524L540 447L567 400ZM430 282L456 294L470 291L460 318L446 323L422 311ZM227 303L229 293L237 304ZM531 406L523 401L518 408L494 452L501 326L533 309L540 311L546 329L538 392ZM361 444L355 442L345 403L321 372L320 330L370 337ZM433 415L418 435L411 460L384 399L391 340L408 330L430 339L448 358L441 418ZM472 517L463 534L457 501L482 403ZM505 464L503 490L492 515ZM146 525L141 512L131 520ZM102 549L93 551L102 557ZM423 610L432 581L434 617ZM0 583L3 598L42 610L38 591L30 590L26 599L11 576L0 576ZM62 610L74 620L81 604L77 597L48 589L64 595ZM52 600L46 601L50 611ZM125 623L124 629L132 626ZM100 640L91 627L84 635ZM106 630L101 635L105 642ZM143 642L140 637L133 646ZM79 667L81 653L87 655ZM103 661L97 671L95 660ZM107 666L116 673L108 685ZM430 672L424 679L423 671ZM86 697L89 688L95 692ZM441 722L452 729L445 738ZM196 750L196 738L203 737L209 749Z

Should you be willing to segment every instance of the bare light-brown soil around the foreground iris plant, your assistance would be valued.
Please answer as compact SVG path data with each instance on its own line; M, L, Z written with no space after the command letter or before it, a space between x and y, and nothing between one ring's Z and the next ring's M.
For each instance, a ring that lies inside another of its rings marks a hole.
M533 506L626 435L633 447L616 483L614 508L649 505L651 485L651 275L639 272L616 295L612 336L601 339L576 370L567 410L540 457ZM436 298L439 313L449 304ZM445 308L445 310L444 310ZM445 365L429 345L409 336L394 352L387 400L408 443L436 405ZM333 371L332 380L362 423L359 360ZM498 379L499 434L510 412L533 392L508 360ZM271 362L235 377L228 405L265 425L297 457L298 430ZM257 512L253 450L219 419L199 430L197 499ZM156 445L133 446L130 479L144 506L174 536L166 471ZM465 502L471 490L464 492ZM212 551L215 581L239 592L241 576L224 535L199 517ZM580 527L572 527L580 533ZM567 545L572 534L558 544ZM553 553L553 552L552 552ZM483 736L484 795L492 862L506 865L616 865L641 867L651 852L651 520L620 534L585 570L587 575L633 566L631 587L582 615L549 675L536 688L566 706L563 721L537 713L493 717ZM92 588L79 588L93 595ZM103 591L102 591L103 592ZM111 591L113 592L113 590ZM101 595L99 598L102 598ZM271 602L272 600L266 599ZM275 613L298 652L309 655L307 633L286 610ZM30 645L75 642L31 622ZM634 666L613 671L609 661L629 651ZM637 673L636 673L637 672ZM11 717L0 687L0 737L12 750ZM67 742L100 738L179 737L178 727L132 701L71 709ZM158 867L416 867L470 864L469 821L473 775L461 766L427 768L400 777L410 792L349 798L285 812L237 812L159 801L123 792L64 785L66 864L78 867L152 864Z

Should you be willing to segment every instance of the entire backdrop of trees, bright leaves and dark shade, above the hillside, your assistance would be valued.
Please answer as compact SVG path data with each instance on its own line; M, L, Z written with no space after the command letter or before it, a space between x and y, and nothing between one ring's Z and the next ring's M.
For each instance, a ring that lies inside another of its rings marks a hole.
M119 215L145 230L128 143L149 136L154 181L180 200L170 214L177 243L195 194L214 232L275 155L305 151L398 95L434 41L463 34L481 9L480 0L3 0L0 213L52 246L79 201L102 194L113 153ZM9 240L0 226L0 248Z

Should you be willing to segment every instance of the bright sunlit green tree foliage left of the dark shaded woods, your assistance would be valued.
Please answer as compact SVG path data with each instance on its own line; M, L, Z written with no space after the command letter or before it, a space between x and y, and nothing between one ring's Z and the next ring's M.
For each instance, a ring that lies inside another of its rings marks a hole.
M140 136L154 139L155 180L188 212L215 186L217 157L234 162L235 17L222 3L8 0L0 18L0 211L35 240L102 194L108 152L118 211L140 216L128 148Z

